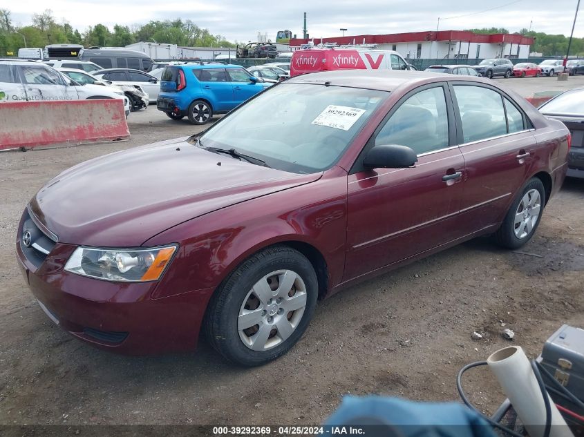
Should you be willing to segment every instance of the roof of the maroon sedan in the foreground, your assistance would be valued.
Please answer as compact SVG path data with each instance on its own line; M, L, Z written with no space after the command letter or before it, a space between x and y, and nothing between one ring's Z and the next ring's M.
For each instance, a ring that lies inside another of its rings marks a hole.
M393 91L407 82L432 81L428 79L452 80L451 75L438 72L413 70L333 70L307 73L286 79L287 84L323 84L330 82L333 86L348 86L371 90ZM477 80L469 76L464 80ZM478 81L481 81L480 79Z

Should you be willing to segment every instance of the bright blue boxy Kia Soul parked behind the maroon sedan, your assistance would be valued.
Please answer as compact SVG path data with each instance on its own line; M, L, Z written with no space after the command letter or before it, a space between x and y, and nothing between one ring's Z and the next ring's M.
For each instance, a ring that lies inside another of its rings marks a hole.
M270 85L241 66L167 66L156 107L173 120L186 116L192 124L205 124L214 114L228 113Z

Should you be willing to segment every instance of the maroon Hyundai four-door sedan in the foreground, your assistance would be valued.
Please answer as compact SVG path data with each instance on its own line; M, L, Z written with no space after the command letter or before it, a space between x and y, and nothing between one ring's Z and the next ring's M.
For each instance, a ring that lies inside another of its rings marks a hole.
M58 175L22 215L17 258L48 317L81 340L161 353L193 350L202 332L261 365L299 340L317 300L358 281L479 235L528 242L569 142L486 79L302 75L198 137Z

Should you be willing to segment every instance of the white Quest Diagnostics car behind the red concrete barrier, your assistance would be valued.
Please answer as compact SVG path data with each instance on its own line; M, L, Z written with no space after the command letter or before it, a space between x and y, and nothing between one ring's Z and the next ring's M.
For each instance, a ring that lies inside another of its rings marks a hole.
M122 99L126 117L130 112L129 99L120 90L77 84L42 62L0 59L0 102L85 99Z

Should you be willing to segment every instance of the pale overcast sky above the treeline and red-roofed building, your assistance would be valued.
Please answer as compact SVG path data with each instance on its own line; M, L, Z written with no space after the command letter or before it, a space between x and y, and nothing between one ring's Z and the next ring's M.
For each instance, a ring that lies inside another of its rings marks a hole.
M150 20L191 19L234 41L256 41L258 32L272 40L278 30L302 35L303 12L308 12L311 37L382 34L435 30L504 27L522 28L569 36L577 0L0 0L0 8L12 12L15 23L30 23L32 13L53 10L57 21L68 21L83 32L88 26L115 23L131 26ZM497 8L482 12L487 9ZM583 8L581 8L583 9ZM464 17L459 17L464 15ZM574 36L584 37L581 10ZM456 17L456 18L453 18ZM162 42L162 41L160 41Z

